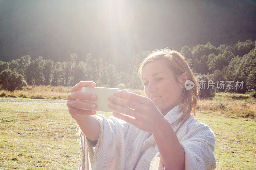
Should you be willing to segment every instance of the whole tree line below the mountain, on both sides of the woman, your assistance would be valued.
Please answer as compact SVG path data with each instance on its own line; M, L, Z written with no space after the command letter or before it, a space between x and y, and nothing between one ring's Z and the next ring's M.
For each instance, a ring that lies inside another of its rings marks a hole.
M213 90L244 93L256 91L255 47L256 42L251 40L219 47L208 42L193 48L183 46L180 53L187 58L198 81L233 82L233 88ZM102 58L96 60L90 53L80 62L77 62L76 54L71 54L68 61L56 63L41 56L32 60L30 55L25 55L9 62L0 61L0 84L2 88L7 84L1 79L8 77L6 71L9 70L9 74L12 71L22 76L28 85L73 86L79 81L90 80L101 87L118 87L121 84L125 88L142 89L137 68L148 54L145 51L142 55L131 56L126 63L127 69L122 71L117 71L113 64L104 62ZM244 82L242 89L234 88L237 81Z

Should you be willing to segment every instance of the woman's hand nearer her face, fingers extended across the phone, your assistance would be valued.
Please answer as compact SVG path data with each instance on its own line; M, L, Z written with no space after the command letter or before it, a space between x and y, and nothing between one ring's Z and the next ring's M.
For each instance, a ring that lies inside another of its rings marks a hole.
M118 90L108 96L108 100L111 101L108 107L119 112L114 112L113 116L152 134L167 121L153 101L145 96Z

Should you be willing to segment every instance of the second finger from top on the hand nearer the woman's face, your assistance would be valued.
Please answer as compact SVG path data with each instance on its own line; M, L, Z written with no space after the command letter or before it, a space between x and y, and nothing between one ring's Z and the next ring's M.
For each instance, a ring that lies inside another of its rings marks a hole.
M143 108L142 108L143 105L142 104L134 102L134 101L129 100L129 99L125 99L125 98L110 95L110 96L108 96L108 100L113 102L113 103L116 103L118 105L122 105L124 107L129 107L129 108L138 110L140 112L143 111Z

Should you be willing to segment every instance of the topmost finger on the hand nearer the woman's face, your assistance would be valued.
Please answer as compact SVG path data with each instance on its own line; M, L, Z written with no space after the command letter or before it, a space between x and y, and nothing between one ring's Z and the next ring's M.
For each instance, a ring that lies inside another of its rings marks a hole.
M115 91L114 95L117 96L117 97L129 99L129 100L137 102L137 103L146 103L147 100L150 100L145 96L141 96L139 94L135 94L135 93L132 93L132 92L124 92L124 91L121 91L121 90Z

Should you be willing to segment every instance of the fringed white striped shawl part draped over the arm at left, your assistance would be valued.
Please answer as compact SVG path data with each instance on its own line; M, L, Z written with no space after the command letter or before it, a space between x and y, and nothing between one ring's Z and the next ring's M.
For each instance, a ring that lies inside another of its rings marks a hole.
M78 127L80 144L79 170L83 169L124 169L124 138L129 123L116 120L114 116L107 119L104 115L96 115L100 120L99 139L93 149L89 141Z

